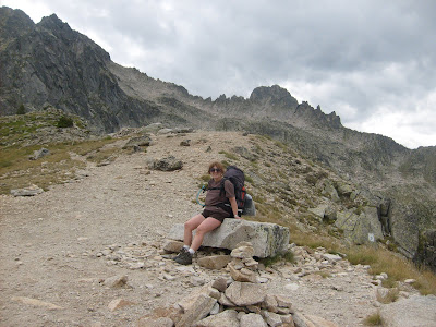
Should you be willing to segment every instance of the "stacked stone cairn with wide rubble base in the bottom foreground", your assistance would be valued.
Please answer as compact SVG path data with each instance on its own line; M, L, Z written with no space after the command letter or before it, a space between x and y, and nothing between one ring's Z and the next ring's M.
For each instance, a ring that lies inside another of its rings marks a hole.
M292 308L289 298L267 293L266 286L259 282L253 254L251 243L239 243L227 266L231 278L218 278L194 291L174 306L178 313L174 310L158 319L143 318L138 326L315 326Z

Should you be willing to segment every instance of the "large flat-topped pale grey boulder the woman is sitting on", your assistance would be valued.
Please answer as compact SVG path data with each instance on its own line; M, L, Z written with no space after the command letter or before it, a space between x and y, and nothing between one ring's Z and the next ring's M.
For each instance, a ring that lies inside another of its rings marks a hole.
M182 223L174 225L168 238L183 240ZM254 256L268 257L284 253L289 244L289 228L276 223L226 218L216 230L207 233L202 245L233 250L238 243L252 243Z

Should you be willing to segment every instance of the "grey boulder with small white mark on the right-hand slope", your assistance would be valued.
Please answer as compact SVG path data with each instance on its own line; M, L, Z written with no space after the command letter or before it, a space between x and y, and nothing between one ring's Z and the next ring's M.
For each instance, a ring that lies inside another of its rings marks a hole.
M376 207L364 207L359 215L353 211L338 213L335 226L342 229L346 239L353 244L371 244L383 240Z

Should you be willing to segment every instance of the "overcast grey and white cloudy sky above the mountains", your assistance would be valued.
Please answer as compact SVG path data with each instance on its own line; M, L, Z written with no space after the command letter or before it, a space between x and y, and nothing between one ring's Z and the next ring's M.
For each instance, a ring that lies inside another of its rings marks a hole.
M347 128L436 145L433 0L0 0L59 19L112 60L191 94L278 84Z

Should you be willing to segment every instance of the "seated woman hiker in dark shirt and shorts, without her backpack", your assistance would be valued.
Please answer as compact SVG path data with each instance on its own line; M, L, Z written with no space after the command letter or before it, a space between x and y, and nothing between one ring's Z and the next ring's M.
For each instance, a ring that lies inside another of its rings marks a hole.
M225 180L225 192L221 192L221 182L225 173L222 164L218 161L211 162L208 173L211 179L207 185L204 210L184 223L184 245L174 258L181 265L192 264L192 257L202 245L204 235L217 229L225 218L242 219L238 216L238 204L232 182ZM225 205L227 202L230 202L230 206ZM192 232L195 229L196 232L193 239Z

